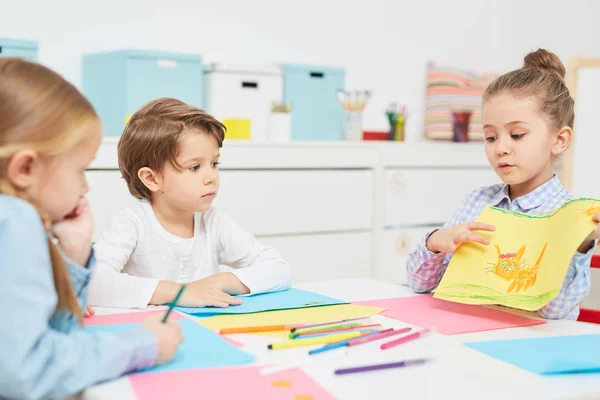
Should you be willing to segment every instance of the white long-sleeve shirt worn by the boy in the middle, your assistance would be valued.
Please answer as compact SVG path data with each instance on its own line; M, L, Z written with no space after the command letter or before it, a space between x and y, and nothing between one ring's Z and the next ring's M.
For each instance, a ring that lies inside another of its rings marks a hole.
M97 267L89 303L146 308L160 280L188 283L219 272L220 265L252 294L287 289L291 267L218 208L194 215L194 237L167 232L149 202L140 200L111 221L94 245Z

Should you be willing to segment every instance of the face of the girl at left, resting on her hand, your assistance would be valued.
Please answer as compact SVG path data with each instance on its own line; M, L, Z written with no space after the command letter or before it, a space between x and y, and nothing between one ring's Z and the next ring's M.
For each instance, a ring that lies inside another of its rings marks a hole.
M85 169L94 159L102 141L100 123L91 124L85 139L55 157L38 157L29 168L30 180L25 192L51 218L65 219L88 192Z

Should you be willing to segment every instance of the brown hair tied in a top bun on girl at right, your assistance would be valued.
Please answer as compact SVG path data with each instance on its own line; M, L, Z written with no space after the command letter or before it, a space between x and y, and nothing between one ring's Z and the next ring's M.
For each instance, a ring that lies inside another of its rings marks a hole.
M544 49L529 53L523 67L508 72L492 82L483 95L483 103L499 93L514 96L534 96L540 111L553 128L568 126L573 129L575 101L564 81L565 67L556 54Z

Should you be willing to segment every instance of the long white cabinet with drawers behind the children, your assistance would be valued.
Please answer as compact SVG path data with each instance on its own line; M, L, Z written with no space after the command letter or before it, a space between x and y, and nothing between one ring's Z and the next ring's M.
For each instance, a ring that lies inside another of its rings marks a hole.
M87 171L98 240L135 199L107 139ZM222 149L215 206L290 262L295 282L406 283L408 253L467 193L498 182L473 144L241 143Z

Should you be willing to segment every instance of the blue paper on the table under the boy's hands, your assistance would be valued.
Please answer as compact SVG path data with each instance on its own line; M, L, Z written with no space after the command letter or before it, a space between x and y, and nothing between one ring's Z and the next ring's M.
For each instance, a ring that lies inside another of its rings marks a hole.
M261 311L287 310L293 308L307 308L315 306L328 306L346 304L345 301L323 296L300 289L288 289L282 292L262 293L252 296L236 296L242 300L239 306L228 308L217 307L176 307L177 310L187 314L250 314Z

